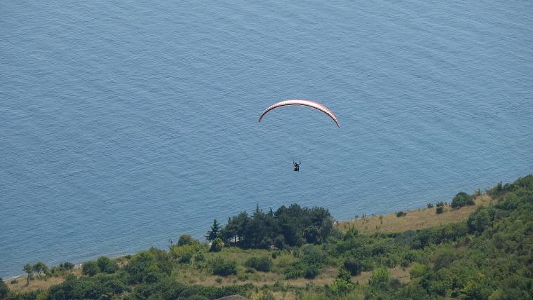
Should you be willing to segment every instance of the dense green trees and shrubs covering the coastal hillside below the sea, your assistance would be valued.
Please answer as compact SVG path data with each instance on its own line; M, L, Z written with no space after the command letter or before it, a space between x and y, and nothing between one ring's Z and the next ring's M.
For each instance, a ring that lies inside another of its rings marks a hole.
M211 246L182 236L169 251L151 248L131 257L88 261L81 276L72 274L72 264L53 272L42 263L28 264L32 277L66 280L25 294L0 285L0 299L216 299L229 294L272 299L278 292L292 292L297 299L533 299L533 176L497 184L487 195L494 204L479 207L465 221L402 233L340 232L329 212L318 207L291 205L267 213L257 207L251 216L243 212L229 218L224 227L215 221L206 236ZM470 205L472 197L458 193L454 209ZM212 250L215 244L220 249ZM410 278L395 278L398 268ZM335 270L329 284L310 281L325 270ZM371 274L367 283L353 277L362 272ZM218 277L211 285L196 285L184 280L187 273ZM273 274L276 282L250 284L263 274ZM222 278L231 285L221 285ZM297 278L309 281L305 287L291 285Z

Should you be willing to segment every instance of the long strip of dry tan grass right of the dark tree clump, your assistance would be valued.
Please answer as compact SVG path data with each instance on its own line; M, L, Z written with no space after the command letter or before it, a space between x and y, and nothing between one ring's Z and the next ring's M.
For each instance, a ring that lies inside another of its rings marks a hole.
M354 226L363 233L379 232L402 232L406 230L424 229L441 224L450 224L463 221L474 212L479 206L491 203L492 198L487 195L475 198L475 205L465 206L458 209L445 207L445 212L436 214L436 207L421 208L419 210L409 210L407 215L396 217L396 213L385 214L383 216L365 217L351 221L339 222L337 228L346 231Z

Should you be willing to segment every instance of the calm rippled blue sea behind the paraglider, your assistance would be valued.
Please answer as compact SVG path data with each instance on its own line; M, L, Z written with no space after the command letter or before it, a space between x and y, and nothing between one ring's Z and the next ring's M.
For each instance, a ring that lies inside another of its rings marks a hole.
M532 173L532 45L529 0L0 1L0 276Z

